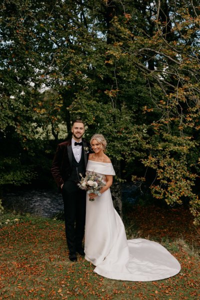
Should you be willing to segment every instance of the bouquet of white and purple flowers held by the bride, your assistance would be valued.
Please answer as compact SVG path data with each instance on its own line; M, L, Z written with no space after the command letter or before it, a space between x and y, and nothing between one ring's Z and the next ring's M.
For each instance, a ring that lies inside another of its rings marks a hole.
M100 176L99 174L96 174L94 172L87 172L85 177L83 177L81 174L81 180L78 182L78 186L81 189L87 190L87 193L95 193L96 195L100 196L100 189L102 186L106 184L105 180L103 179L103 176ZM90 201L93 201L94 199L89 198Z

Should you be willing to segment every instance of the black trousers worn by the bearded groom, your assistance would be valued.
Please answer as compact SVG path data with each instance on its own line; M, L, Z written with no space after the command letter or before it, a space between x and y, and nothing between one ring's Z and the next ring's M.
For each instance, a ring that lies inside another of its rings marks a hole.
M62 187L66 242L70 252L82 246L85 225L85 190L74 181L65 181Z

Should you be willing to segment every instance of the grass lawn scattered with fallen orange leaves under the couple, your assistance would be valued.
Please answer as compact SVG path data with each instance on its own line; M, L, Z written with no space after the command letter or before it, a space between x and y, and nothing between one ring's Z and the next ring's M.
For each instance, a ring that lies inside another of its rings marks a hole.
M0 300L200 298L199 229L188 211L164 210L134 207L124 216L128 238L157 240L181 264L179 274L149 282L101 277L82 256L69 261L63 221L0 215Z

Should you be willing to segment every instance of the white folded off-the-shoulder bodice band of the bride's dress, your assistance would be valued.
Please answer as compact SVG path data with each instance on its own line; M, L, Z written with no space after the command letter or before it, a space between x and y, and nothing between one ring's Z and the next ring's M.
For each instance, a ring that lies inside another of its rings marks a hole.
M111 162L99 162L99 161L88 160L86 171L99 173L101 175L115 175Z

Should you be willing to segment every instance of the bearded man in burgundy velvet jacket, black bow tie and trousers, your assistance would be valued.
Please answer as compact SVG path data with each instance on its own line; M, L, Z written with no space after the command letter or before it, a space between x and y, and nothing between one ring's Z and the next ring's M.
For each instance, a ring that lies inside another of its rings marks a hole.
M72 138L57 146L51 173L62 193L64 220L69 259L76 261L76 252L84 255L82 239L85 225L85 191L77 186L84 176L90 145L82 140L84 123L76 119L72 122Z

